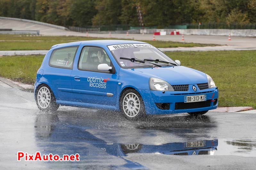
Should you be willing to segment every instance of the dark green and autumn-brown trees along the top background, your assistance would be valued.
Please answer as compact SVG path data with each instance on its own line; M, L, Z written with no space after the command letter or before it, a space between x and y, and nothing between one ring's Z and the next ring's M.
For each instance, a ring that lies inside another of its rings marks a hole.
M256 0L0 0L0 16L61 26L256 23ZM1 26L0 26L1 27Z

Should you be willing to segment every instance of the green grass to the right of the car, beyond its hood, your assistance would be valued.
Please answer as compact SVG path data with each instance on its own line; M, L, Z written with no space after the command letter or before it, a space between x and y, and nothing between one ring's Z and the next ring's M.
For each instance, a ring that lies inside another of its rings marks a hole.
M168 52L181 65L209 74L219 87L219 106L256 108L256 51Z

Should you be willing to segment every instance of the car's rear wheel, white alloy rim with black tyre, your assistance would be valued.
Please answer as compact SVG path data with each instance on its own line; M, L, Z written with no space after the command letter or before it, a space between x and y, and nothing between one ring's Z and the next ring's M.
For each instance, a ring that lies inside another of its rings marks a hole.
M56 103L56 99L51 88L45 84L40 85L36 89L36 105L43 111L55 111L60 107L60 105Z

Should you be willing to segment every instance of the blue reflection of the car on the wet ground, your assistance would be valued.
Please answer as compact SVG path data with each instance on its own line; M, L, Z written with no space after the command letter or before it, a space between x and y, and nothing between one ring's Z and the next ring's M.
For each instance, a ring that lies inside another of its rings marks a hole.
M60 116L60 118L58 117ZM143 144L143 143L131 143L131 142L114 142L118 139L113 136L101 136L106 131L110 133L119 133L119 130L112 128L109 129L95 129L91 126L86 126L86 123L74 124L75 120L71 120L71 116L68 118L61 114L39 114L36 116L35 121L35 134L37 145L43 150L44 154L80 154L80 160L85 160L91 157L97 157L97 155L112 155L118 158L122 158L126 161L129 168L141 168L140 164L133 163L125 159L128 153L158 153L168 155L213 155L217 150L218 140L198 140L198 136L195 140L189 139L188 142L172 142L168 143L166 140L161 144ZM60 119L62 119L60 121ZM79 122L77 120L77 122ZM139 129L138 129L139 128ZM132 130L144 130L138 127ZM201 127L200 127L201 128ZM147 130L148 128L146 128ZM115 131L116 130L116 131ZM160 129L161 130L161 129ZM165 129L166 130L166 129ZM105 132L104 132L105 131ZM164 131L164 129L162 129ZM92 134L95 132L95 134ZM143 132L144 133L144 132ZM175 132L168 132L170 135ZM183 134L183 132L176 132ZM166 134L166 132L165 132ZM177 135L177 134L175 134ZM120 135L119 137L121 137ZM131 136L131 135L130 135ZM179 136L179 135L177 135ZM145 136L147 138L147 136ZM148 135L148 139L151 138ZM161 136L156 136L161 138ZM136 138L136 137L134 137ZM142 137L144 138L144 137ZM146 140L148 140L146 139ZM112 142L111 142L112 141ZM135 141L135 140L133 140ZM107 157L108 158L108 157ZM97 158L96 158L97 159ZM81 162L81 161L80 161ZM138 167L139 166L139 167Z

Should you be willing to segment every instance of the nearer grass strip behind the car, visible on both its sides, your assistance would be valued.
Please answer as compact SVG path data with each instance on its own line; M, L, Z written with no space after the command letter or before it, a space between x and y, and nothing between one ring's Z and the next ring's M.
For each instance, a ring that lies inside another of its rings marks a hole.
M219 106L256 108L256 51L167 52L181 65L209 74L219 87ZM0 76L33 84L43 55L0 58Z

